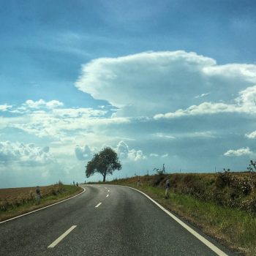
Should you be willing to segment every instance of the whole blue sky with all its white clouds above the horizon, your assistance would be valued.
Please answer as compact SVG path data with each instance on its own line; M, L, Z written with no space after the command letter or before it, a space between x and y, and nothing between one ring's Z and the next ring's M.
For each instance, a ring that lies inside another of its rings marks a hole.
M256 2L3 0L0 188L246 170L256 159Z

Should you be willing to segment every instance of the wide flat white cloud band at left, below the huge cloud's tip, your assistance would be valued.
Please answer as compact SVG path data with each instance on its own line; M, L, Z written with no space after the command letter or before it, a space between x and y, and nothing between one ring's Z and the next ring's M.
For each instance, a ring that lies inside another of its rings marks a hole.
M19 116L0 116L0 128L18 128L39 138L49 137L64 140L69 132L88 131L129 122L129 118L107 117L108 110L93 108L56 109L54 106L62 105L61 102L58 102L57 100L45 102L43 99L38 102L27 100L25 104L12 110L13 114L18 113ZM44 108L44 106L46 107ZM70 136L68 137L70 138Z

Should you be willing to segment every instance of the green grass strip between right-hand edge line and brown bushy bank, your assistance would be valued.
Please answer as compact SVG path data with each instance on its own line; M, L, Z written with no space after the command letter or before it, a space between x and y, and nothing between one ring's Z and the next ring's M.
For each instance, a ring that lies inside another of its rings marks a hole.
M244 255L256 255L256 216L237 208L220 206L212 201L200 200L192 195L174 192L170 189L169 197L165 198L163 187L150 185L152 177L137 187L136 178L127 178L110 182L135 187L165 208L196 225L204 233ZM155 178L155 177L154 177ZM143 180L140 179L140 181Z

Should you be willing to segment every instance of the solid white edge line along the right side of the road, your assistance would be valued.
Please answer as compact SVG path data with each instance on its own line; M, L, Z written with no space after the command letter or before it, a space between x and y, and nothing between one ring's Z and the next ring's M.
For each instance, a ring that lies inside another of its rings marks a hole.
M121 186L121 185L119 185L119 186ZM121 187L127 187L127 186L121 186ZM134 189L133 187L129 187L129 188ZM188 230L189 233L192 233L192 235L195 236L197 239L199 239L203 244L206 244L206 246L208 246L208 248L210 248L212 251L214 251L217 255L228 256L227 254L225 254L225 252L222 252L222 250L219 249L217 246L212 244L210 241L208 241L206 238L204 238L203 236L198 234L195 230L193 230L187 224L182 222L181 219L178 219L175 215L171 214L170 211L167 211L164 207L159 205L159 203L157 203L154 199L152 199L151 197L149 197L144 192L141 192L138 189L134 189L134 190L136 190L136 191L140 192L141 194L145 195L146 197L148 197L148 199L151 200L153 203L155 203L159 208L161 208L162 211L165 211L166 214L168 214L171 218L173 218L176 222L178 222L178 224L180 224L182 227L184 227L186 230Z

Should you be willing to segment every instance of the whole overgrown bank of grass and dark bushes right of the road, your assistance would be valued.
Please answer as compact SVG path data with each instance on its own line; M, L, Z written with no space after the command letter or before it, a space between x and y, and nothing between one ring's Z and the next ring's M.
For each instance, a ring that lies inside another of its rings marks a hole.
M166 197L167 179L170 190ZM200 174L158 171L154 176L116 179L108 184L140 189L222 244L244 255L255 255L256 176L252 170Z

